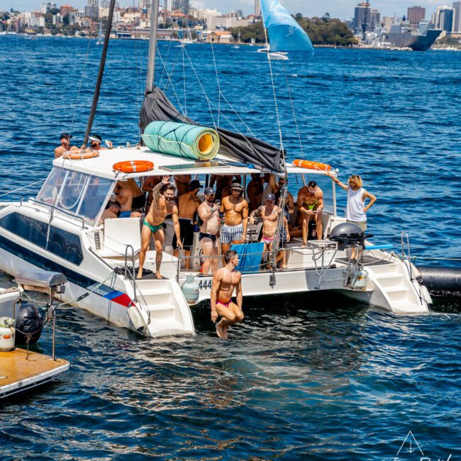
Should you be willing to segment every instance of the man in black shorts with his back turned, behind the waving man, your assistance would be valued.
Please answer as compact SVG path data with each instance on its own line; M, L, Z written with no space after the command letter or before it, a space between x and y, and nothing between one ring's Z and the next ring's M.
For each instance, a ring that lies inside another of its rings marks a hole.
M197 181L197 179L194 179L194 181L189 182L189 190L178 198L179 228L183 239L182 246L187 256L186 270L189 270L191 266L189 256L191 255L191 248L194 243L194 218L201 204L201 200L197 196L197 192L202 187L203 186L200 185L200 182ZM177 257L178 245L176 235L174 235L172 245L174 248L173 254Z

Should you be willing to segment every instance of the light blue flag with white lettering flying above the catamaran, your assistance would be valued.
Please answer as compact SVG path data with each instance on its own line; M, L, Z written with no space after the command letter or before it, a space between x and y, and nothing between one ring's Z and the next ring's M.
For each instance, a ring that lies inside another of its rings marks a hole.
M299 26L279 0L261 0L262 18L269 33L271 51L309 51L309 35Z

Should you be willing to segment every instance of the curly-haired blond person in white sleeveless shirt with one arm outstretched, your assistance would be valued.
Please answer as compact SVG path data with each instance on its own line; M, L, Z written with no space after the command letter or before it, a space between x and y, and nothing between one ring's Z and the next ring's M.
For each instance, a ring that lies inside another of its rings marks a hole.
M349 177L348 184L340 182L331 172L328 172L328 176L331 177L338 186L348 191L346 220L350 223L357 224L357 226L365 232L365 230L367 230L367 215L365 213L367 213L372 204L374 204L376 197L370 194L369 191L363 189L362 178L357 174L352 174L352 176ZM366 199L370 200L367 205L365 205Z

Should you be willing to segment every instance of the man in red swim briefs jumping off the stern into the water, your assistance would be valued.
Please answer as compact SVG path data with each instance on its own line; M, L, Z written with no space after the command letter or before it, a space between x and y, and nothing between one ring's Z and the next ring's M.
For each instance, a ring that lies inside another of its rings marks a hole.
M238 266L237 252L230 250L224 255L226 265L218 269L213 275L211 285L211 321L216 322L218 316L221 321L216 323L216 333L219 338L227 339L227 329L235 323L243 321L243 293L242 274L235 270ZM232 301L232 294L235 289L237 304Z

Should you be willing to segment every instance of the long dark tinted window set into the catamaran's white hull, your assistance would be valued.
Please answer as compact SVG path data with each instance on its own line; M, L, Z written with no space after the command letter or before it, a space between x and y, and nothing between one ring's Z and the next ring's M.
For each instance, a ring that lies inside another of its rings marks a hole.
M79 236L67 230L50 226L50 238L47 245L48 223L23 216L20 213L10 213L0 219L0 226L75 265L79 265L83 260Z

